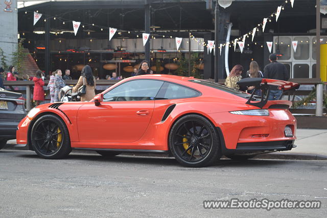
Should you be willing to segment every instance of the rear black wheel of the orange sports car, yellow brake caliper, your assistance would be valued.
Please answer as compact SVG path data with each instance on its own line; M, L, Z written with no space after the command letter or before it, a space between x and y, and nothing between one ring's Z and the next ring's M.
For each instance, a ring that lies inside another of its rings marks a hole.
M208 166L221 157L215 126L196 114L177 120L169 134L169 148L175 159L187 167Z

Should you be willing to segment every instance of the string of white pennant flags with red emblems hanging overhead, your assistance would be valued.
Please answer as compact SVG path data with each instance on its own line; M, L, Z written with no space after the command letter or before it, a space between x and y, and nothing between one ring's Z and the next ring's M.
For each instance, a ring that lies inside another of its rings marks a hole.
M265 27L266 27L266 24L267 22L271 22L272 20L272 17L275 16L275 20L277 22L278 18L279 18L279 15L281 14L281 11L284 10L284 7L287 3L291 3L291 7L293 8L293 5L294 5L294 0L285 0L284 3L281 5L281 6L278 6L276 11L274 13L272 13L269 17L265 17L263 18L263 21L261 23L259 23L257 26L255 26L252 31L246 33L243 35L243 37L239 37L239 38L235 38L231 41L228 41L228 42L225 42L225 43L220 43L219 44L219 50L220 50L220 55L221 55L221 50L224 46L233 46L234 47L234 51L236 51L236 46L239 45L239 48L240 48L240 52L243 53L243 49L245 47L245 41L246 41L246 38L248 38L249 36L252 36L252 42L253 42L253 39L255 37L255 33L258 32L260 29L260 27L262 28L262 32L265 31ZM27 14L27 11L25 12ZM33 19L33 26L35 26L35 24L40 20L40 18L42 17L42 13L38 13L38 11L34 11L34 19ZM56 17L50 17L50 16L47 16L47 18L44 19L44 21L46 21L46 19L50 19L50 18L53 18L53 19L56 19ZM61 19L63 20L62 18L58 18L58 19ZM73 25L73 30L74 30L74 34L76 36L80 26L81 26L81 22L80 21L75 21L75 20L66 20L66 22L69 22L71 21L72 22L72 25ZM63 20L63 24L65 24L65 20ZM82 25L82 27L84 28L84 25L86 26L95 26L94 23L92 23L91 25L89 23L84 23ZM116 28L112 28L112 27L102 27L102 26L98 26L96 25L95 27L99 27L101 28L101 31L103 31L103 29L108 29L109 30L109 41L112 39L112 37L115 35L115 33L117 32L118 29ZM123 31L123 30L122 30ZM128 33L130 33L131 31L128 31ZM121 32L119 32L119 34L121 34ZM160 35L160 34L155 34L155 35ZM192 40L195 40L196 42L198 42L197 38L195 38L191 33L190 33L190 36L191 36L191 39ZM137 34L137 37L138 37L138 34ZM162 37L165 38L165 35L162 35ZM145 44L147 43L147 41L149 40L150 38L150 33L142 33L142 38L143 38L143 45L145 46ZM155 39L155 36L152 36L152 38ZM172 36L170 36L170 38L172 38ZM175 37L175 42L176 42L176 50L178 51L179 50L179 47L182 43L182 40L183 38L180 38L180 37ZM199 43L201 44L201 43ZM207 43L205 43L204 41L202 42L203 46L206 46L207 47L207 53L212 53L212 50L214 50L214 55L215 55L215 41L214 40L207 40ZM273 46L273 42L266 42L267 44L267 47L268 47L268 50L269 50L269 53L271 53L272 51L272 46ZM292 41L292 46L293 46L293 49L294 49L294 52L296 52L296 47L297 47L297 41Z

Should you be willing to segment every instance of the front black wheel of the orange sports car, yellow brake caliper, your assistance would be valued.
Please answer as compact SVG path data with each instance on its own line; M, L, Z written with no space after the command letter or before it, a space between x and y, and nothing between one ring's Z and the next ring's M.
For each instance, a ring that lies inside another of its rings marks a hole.
M65 123L55 115L43 115L33 124L31 144L40 157L60 159L71 153L71 140Z

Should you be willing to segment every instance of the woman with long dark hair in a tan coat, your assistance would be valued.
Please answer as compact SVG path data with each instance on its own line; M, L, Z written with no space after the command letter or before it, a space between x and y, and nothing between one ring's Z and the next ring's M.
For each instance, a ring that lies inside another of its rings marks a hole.
M85 65L82 69L82 75L78 79L76 86L73 87L72 92L77 92L84 84L86 85L86 93L81 96L81 102L91 101L96 96L96 78L93 76L92 69L89 65Z

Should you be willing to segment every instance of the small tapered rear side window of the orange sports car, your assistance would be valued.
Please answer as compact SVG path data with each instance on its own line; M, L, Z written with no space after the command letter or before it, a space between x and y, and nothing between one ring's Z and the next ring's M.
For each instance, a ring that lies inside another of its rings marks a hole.
M200 93L185 86L165 82L156 99L185 99L199 96Z

